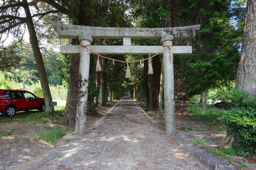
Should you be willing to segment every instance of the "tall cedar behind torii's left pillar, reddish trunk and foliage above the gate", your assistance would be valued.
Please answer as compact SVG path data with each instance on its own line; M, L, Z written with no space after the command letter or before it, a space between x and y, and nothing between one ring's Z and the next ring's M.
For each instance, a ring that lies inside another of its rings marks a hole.
M123 27L126 23L124 12L129 7L126 6L129 1L62 0L56 2L53 0L41 0L41 2L67 15L71 24L83 26ZM74 39L72 44L79 45L79 42ZM63 122L71 125L74 124L76 113L78 88L76 82L79 74L79 55L71 55L70 65L69 89Z

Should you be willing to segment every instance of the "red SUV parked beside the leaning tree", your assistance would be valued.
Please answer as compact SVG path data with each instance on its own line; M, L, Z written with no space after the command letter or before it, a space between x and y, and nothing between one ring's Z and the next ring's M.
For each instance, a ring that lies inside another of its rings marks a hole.
M26 90L0 89L0 112L12 116L17 111L38 109L45 111L44 98L39 98Z

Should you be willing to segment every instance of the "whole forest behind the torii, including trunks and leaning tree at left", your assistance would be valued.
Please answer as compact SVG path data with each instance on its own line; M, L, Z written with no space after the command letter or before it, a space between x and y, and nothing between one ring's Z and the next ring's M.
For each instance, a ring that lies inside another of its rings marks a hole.
M252 1L248 2L247 7L248 4L253 4ZM69 125L74 125L75 120L79 55L60 55L53 49L59 45L78 45L79 42L76 39L58 39L51 21L83 26L142 28L201 24L195 39L174 41L174 45L191 45L193 48L192 55L174 56L174 77L176 81L182 80L182 85L187 87L187 96L205 96L209 91L229 90L234 87L236 70L242 58L246 12L250 9L250 6L246 8L245 0L5 0L0 3L1 88L13 88L10 84L22 81L15 88L31 88L39 97L43 94L46 102L52 100L54 92L66 94L63 123ZM23 36L27 35L26 28L31 44L23 40ZM12 41L6 44L8 37ZM122 40L94 40L93 44L122 45ZM132 45L160 43L133 40ZM134 61L148 58L148 55L107 57ZM92 107L95 104L104 106L107 100L120 98L124 91L130 90L134 100L144 102L150 111L162 113L164 91L161 88L163 82L160 55L152 60L152 75L147 74L147 60L142 64L130 64L131 79L125 79L125 64L113 64L105 59L100 60L102 72L96 73L96 60L91 55L88 100ZM31 87L39 87L39 84L42 86L41 93ZM55 87L59 90L54 89ZM255 86L252 87L254 88L247 89L250 96L255 97ZM51 92L48 89L52 89ZM50 109L47 108L47 112ZM95 110L89 108L88 113L91 112Z

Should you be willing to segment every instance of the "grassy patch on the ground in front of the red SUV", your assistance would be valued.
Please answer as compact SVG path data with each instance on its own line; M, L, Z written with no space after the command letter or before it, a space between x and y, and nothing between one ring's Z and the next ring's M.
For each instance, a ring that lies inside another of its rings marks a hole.
M64 107L55 107L54 121L63 116ZM50 128L47 123L52 123L52 114L46 112L27 111L17 112L13 117L1 116L0 139L14 137L21 141L39 140L56 146L58 139L65 135L66 127Z

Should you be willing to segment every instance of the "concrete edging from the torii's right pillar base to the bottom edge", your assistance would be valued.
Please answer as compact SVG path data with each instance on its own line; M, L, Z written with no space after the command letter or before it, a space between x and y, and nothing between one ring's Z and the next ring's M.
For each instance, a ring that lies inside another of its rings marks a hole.
M194 158L200 161L204 166L210 170L238 170L235 166L225 162L222 159L208 153L207 151L188 143L178 136L171 136L172 140L178 143L186 151L190 152Z

